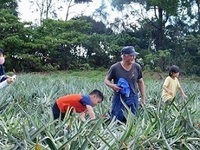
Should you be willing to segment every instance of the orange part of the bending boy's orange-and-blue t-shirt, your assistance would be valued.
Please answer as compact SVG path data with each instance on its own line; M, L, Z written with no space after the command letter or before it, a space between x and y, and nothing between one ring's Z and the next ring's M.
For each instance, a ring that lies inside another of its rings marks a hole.
M81 94L71 94L58 98L56 104L62 113L65 113L68 109L73 109L77 113L84 112L87 108L81 103Z

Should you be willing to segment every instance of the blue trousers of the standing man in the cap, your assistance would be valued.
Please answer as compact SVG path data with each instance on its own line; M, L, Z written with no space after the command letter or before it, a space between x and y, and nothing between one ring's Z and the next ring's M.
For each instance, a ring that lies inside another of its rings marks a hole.
M117 120L126 122L126 118L124 116L124 111L126 111L126 108L122 103L122 100L125 102L127 107L130 108L131 112L137 116L138 95L131 93L129 97L125 97L119 93L114 94L112 101L111 119L116 117Z

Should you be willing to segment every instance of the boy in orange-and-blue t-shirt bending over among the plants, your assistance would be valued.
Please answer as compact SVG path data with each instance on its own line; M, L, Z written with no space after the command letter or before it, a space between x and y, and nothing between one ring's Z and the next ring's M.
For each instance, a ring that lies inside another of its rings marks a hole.
M80 113L80 119L85 121L86 113L89 114L91 119L95 119L93 107L103 101L103 93L97 89L93 90L89 95L83 94L70 94L65 95L56 100L52 107L54 119L61 117L64 119L67 111L70 113Z

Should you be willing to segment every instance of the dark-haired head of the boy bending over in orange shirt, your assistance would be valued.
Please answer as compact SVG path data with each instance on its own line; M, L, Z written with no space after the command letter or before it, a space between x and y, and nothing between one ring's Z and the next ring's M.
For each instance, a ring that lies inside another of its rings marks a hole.
M90 94L93 105L95 106L97 103L101 103L103 101L103 93L97 89L93 90Z

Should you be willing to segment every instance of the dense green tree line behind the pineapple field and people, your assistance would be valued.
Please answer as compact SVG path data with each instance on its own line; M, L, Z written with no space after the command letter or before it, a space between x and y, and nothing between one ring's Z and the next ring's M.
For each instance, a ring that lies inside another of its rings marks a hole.
M184 74L200 74L199 0L102 0L90 16L80 12L73 18L74 5L92 0L62 0L59 8L54 0L29 1L40 13L37 24L20 20L19 1L0 2L0 48L7 71L107 69L120 60L123 46L133 45L146 71L176 64ZM107 4L119 13L113 21ZM58 19L58 9L66 12L64 20Z

